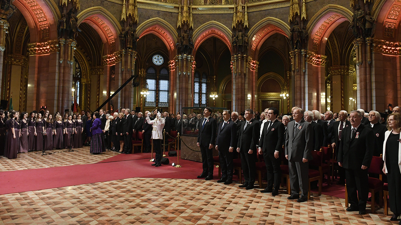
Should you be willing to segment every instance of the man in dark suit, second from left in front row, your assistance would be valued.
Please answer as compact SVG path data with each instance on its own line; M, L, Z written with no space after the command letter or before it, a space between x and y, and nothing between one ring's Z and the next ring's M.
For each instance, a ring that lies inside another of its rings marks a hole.
M233 183L233 151L237 144L237 125L230 119L230 110L223 110L223 121L217 126L216 150L219 151L221 179L217 183Z

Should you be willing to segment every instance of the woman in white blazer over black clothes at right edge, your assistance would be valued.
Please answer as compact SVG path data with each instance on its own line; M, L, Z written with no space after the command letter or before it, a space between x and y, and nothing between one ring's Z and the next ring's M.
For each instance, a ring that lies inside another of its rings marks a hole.
M389 184L391 221L399 221L401 215L401 114L393 113L387 119L383 143L383 172ZM401 224L401 222L400 222Z

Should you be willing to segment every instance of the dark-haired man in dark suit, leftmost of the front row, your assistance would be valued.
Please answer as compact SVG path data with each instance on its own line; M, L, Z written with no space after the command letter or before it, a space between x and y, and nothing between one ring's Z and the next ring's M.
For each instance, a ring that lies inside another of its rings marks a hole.
M217 122L210 115L213 110L206 107L203 110L203 118L201 119L201 127L198 133L198 141L196 145L201 148L203 171L198 178L205 178L209 181L213 179L213 146L216 140Z

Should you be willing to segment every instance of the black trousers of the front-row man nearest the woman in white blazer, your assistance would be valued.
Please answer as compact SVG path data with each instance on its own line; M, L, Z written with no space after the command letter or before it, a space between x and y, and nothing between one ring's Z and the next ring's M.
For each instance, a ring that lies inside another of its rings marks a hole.
M365 210L369 195L368 170L345 169L345 176L347 179L348 203L350 203L350 207Z

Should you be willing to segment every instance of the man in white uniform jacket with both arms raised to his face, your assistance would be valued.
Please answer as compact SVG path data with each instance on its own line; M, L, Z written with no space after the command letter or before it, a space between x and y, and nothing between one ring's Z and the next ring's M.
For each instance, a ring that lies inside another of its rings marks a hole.
M161 116L160 112L154 110L156 119L150 120L150 112L146 117L148 124L152 125L152 145L154 152L156 153L156 162L152 166L160 167L162 165L162 140L163 140L163 128L166 120Z

